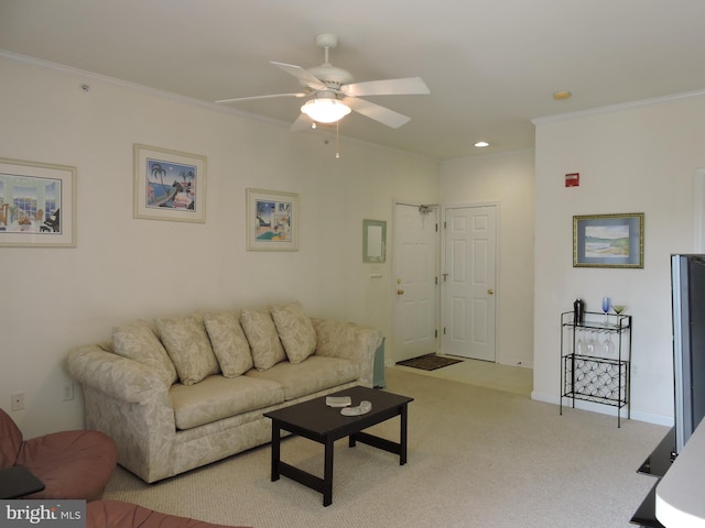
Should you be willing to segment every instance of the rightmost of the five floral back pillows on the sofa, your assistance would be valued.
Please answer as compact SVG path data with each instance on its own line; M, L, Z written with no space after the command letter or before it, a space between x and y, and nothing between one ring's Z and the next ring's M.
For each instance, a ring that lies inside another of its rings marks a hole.
M291 363L301 363L316 351L316 330L301 302L273 307L272 319Z

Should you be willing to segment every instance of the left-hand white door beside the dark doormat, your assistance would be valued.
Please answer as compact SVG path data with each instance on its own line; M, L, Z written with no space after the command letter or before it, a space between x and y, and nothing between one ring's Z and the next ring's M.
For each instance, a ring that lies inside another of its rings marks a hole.
M436 216L435 208L394 206L394 361L437 350Z

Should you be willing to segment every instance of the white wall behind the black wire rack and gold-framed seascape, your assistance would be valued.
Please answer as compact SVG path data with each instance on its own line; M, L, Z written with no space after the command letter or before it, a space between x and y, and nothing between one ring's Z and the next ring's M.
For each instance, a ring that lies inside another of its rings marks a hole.
M705 96L534 121L533 397L558 402L560 314L603 296L633 316L632 418L673 416L670 254L694 250L694 179L705 167ZM564 187L566 173L581 186ZM573 216L643 212L643 270L574 268ZM601 406L601 409L606 409Z

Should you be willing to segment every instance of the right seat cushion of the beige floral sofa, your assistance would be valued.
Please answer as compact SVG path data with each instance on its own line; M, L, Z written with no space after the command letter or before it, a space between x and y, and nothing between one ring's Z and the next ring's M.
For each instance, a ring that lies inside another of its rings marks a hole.
M249 371L245 377L269 380L284 387L286 400L352 382L360 376L360 366L339 358L312 355L301 363L288 361L268 371Z

